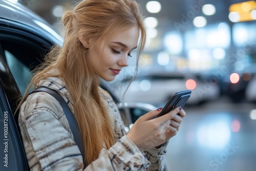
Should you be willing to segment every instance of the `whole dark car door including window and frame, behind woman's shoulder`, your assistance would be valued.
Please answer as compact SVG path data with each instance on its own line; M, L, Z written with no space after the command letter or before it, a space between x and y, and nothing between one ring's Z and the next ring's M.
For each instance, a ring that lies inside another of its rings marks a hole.
M51 35L43 33L0 18L0 170L29 170L13 113L30 82L31 71L54 43Z

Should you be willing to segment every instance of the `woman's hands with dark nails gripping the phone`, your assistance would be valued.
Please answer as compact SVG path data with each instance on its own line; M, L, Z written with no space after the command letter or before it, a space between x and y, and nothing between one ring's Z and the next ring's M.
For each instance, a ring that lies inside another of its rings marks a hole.
M158 109L139 117L127 134L127 137L130 138L141 151L159 146L175 136L177 131L179 131L182 118L186 115L183 109L176 108L163 116L154 118L160 112L161 109ZM178 113L179 115L177 115Z

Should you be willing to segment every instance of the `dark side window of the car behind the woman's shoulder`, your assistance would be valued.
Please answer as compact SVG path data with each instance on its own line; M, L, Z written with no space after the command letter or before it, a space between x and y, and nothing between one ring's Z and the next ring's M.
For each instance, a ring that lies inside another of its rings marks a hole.
M29 32L17 34L19 32L20 30L4 36L0 33L0 43L19 91L24 95L32 70L42 62L52 44L41 37L30 35Z

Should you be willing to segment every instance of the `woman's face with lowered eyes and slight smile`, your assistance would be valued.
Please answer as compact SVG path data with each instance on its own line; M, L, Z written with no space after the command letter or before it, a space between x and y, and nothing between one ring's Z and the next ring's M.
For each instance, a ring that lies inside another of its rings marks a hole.
M138 27L117 30L108 40L103 38L88 50L91 67L106 81L112 81L116 75L129 65L128 58L137 48ZM89 40L92 45L92 40Z

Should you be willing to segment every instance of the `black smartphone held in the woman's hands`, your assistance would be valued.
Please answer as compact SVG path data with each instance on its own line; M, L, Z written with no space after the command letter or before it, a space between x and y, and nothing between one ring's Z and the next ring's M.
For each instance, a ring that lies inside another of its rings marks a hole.
M172 97L170 97L168 102L165 104L165 106L163 107L162 112L158 114L157 117L165 115L179 106L183 108L183 106L189 99L190 95L191 95L191 90L183 90L183 91L174 93Z

